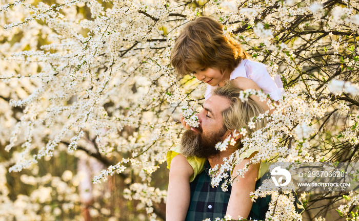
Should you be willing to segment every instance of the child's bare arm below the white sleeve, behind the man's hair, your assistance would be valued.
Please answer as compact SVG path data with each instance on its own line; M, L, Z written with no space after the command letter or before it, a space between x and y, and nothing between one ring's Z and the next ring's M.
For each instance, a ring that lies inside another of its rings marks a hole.
M237 86L239 89L245 91L248 89L254 89L256 91L260 91L261 88L251 79L245 78L245 77L236 77L233 80L233 83L235 86ZM267 105L269 98L267 98L265 101L260 101L260 98L258 96L252 95L250 96L252 100L254 100L257 104L259 104L263 111L266 112L269 110L269 114L273 113L274 109L269 109L269 106Z

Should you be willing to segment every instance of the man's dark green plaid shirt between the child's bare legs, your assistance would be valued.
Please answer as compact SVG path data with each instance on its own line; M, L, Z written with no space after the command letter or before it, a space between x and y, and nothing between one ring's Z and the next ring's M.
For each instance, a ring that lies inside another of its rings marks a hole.
M211 187L211 178L208 175L209 168L210 165L207 161L205 170L198 174L190 184L191 202L186 221L202 221L206 218L210 218L213 221L217 217L224 218L226 215L232 187L229 186L226 192L223 192L220 186L218 186L218 188ZM260 181L261 180L257 181L255 185L256 189L261 185ZM253 203L248 219L264 220L269 208L269 202L270 196L258 198L256 202Z

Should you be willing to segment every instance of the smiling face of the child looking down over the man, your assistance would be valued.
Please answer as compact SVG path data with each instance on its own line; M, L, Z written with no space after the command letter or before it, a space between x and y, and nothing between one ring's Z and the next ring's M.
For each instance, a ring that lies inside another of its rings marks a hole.
M211 86L216 86L220 84L224 75L220 70L212 69L212 68L202 68L200 65L192 65L193 67L193 75L197 78L197 80L208 83Z

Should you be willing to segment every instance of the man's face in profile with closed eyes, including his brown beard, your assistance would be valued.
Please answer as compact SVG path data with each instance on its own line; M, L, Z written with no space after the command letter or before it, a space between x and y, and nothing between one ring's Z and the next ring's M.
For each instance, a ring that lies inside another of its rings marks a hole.
M185 156L208 158L218 154L215 144L223 141L229 131L223 125L222 112L229 107L229 100L211 96L203 104L198 116L200 125L185 131L182 136L182 153Z

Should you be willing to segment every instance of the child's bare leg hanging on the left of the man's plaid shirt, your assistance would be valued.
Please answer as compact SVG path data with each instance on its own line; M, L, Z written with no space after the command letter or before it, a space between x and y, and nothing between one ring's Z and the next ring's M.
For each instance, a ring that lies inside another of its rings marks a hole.
M184 156L178 154L172 159L167 190L167 221L186 219L191 197L189 179L193 173L192 166Z

